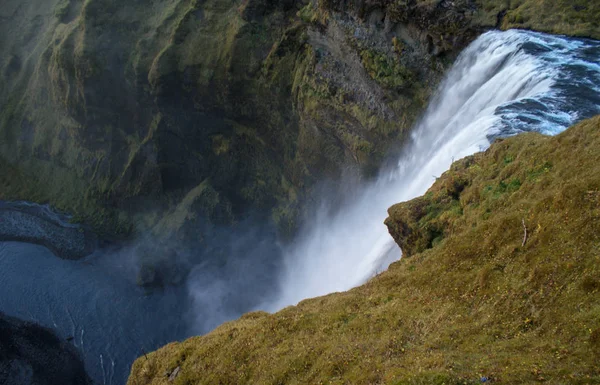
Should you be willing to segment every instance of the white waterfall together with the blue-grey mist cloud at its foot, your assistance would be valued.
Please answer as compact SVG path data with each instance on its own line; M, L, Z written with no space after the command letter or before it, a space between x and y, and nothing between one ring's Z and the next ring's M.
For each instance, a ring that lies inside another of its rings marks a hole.
M581 112L564 112L576 95L590 94L590 82L565 76L574 65L588 68L588 54L580 41L556 36L482 35L459 56L401 157L378 178L348 178L334 188L324 181L329 188L315 189L315 203L291 242L252 220L215 233L198 251L202 262L186 284L193 332L247 311L275 312L349 290L387 269L401 258L383 224L390 206L424 194L453 161L487 149L496 137L555 134L600 112L589 99L577 99Z

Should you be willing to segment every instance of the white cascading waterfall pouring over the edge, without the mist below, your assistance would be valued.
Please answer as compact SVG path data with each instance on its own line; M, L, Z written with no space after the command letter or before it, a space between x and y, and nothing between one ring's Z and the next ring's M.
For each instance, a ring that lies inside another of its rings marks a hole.
M278 299L262 308L348 290L386 269L401 256L383 225L387 208L424 194L453 160L487 148L491 138L525 130L555 134L600 113L599 52L591 41L532 32L482 35L440 86L397 168L333 217L316 214L286 251ZM570 93L589 97L566 104Z

